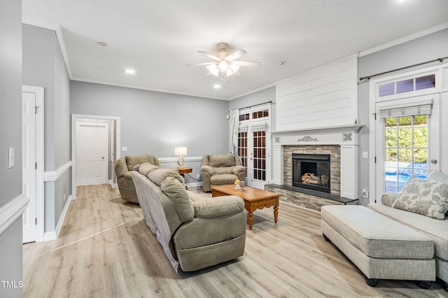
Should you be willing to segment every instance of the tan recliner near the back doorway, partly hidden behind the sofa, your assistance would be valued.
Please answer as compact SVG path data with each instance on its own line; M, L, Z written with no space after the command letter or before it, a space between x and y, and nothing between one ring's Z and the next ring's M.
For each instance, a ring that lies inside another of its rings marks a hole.
M134 182L132 182L129 171L132 171L137 164L143 164L144 162L150 162L155 166L160 166L159 159L150 154L127 155L120 157L115 163L118 189L120 190L121 197L126 201L139 204Z

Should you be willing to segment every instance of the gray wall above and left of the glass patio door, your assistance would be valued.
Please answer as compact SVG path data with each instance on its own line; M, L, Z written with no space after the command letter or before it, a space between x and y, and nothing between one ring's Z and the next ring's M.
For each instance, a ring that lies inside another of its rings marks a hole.
M374 52L371 55L358 59L358 77L369 76L400 67L409 66L429 60L446 57L448 55L448 29L414 39L407 43L396 45L386 50ZM438 62L436 62L438 63ZM429 65L426 65L429 66ZM423 67L426 67L423 66ZM409 70L407 70L409 71ZM390 74L389 74L390 76ZM359 134L359 153L369 151L369 81L358 83L358 120L365 125ZM373 153L373 152L372 152ZM359 159L358 190L360 203L368 204L368 199L362 198L363 188L369 189L369 162L368 159Z

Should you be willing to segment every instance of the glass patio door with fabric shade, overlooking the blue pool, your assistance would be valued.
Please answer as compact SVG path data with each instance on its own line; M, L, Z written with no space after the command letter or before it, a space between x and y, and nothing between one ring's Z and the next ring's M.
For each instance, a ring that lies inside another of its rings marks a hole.
M376 199L440 170L440 94L377 104Z

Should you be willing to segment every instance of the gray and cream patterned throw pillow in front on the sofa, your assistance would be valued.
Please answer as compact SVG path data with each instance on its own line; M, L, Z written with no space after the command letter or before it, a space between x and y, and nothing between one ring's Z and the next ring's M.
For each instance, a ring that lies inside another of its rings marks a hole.
M443 220L448 210L448 181L411 176L392 207Z

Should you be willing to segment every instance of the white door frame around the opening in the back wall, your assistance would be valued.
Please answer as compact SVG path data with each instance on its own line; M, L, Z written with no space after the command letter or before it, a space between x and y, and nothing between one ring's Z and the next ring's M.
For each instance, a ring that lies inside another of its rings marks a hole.
M71 114L71 196L76 199L76 120L78 119L98 119L111 120L115 122L116 129L114 130L116 138L115 155L116 159L120 158L121 147L121 118L117 116L104 115L85 115L85 114ZM109 157L108 157L109 162ZM108 167L109 168L109 167Z

